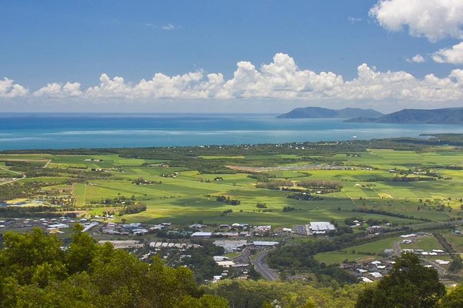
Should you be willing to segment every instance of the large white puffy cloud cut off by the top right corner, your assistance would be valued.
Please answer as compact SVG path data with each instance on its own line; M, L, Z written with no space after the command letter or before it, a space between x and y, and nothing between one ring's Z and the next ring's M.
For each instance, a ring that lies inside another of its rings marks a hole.
M444 37L463 39L462 0L380 0L370 17L388 30L408 27L410 35L437 41Z

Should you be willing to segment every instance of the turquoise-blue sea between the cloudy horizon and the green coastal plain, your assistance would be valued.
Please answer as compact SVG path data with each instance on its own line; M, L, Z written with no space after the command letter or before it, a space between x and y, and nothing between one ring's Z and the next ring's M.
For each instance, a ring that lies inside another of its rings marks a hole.
M272 114L0 114L0 150L318 142L421 133L463 133L463 126L277 119Z

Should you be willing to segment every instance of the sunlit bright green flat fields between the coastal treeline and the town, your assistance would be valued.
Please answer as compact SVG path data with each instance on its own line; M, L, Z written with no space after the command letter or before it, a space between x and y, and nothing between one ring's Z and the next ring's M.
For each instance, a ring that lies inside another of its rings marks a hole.
M270 180L329 180L343 186L341 191L321 195L323 200L311 201L289 199L285 191L257 189L255 184L258 181L250 177L248 172L205 173L188 166L176 166L168 157L145 159L121 157L112 153L0 154L0 166L8 172L11 167L6 166L6 162L40 162L45 165L51 160L46 170L53 172L53 175L27 177L20 182L43 183L44 191L69 189L75 198L75 206L86 209L90 214L105 211L103 200L134 196L137 202L147 204L147 211L118 217L118 220L125 219L128 222L241 222L292 227L294 224L307 224L316 220L335 220L343 225L345 218L352 217L388 220L399 225L415 224L419 220L446 221L461 217L463 192L459 187L463 184L463 171L443 167L461 165L463 151L449 147L424 150L417 153L372 148L362 152L310 157L299 154L196 157L204 164L223 161L227 165L264 168L262 170ZM267 165L271 165L271 168L267 168ZM428 168L430 172L438 173L439 177L432 181L392 181L397 174L391 170L421 168ZM82 171L87 175L106 172L111 173L111 176L95 176L90 180L69 183L71 175L67 173L72 174L71 171ZM133 184L140 177L156 184ZM240 204L217 202L218 195L240 200ZM265 203L267 208L257 209L257 203ZM288 206L293 211L283 212L284 207ZM118 209L114 204L109 207ZM229 209L233 212L224 214ZM383 214L363 213L359 210L381 211ZM358 247L358 251L366 249L364 252L377 253L378 249L371 247L371 244L366 245L366 248Z

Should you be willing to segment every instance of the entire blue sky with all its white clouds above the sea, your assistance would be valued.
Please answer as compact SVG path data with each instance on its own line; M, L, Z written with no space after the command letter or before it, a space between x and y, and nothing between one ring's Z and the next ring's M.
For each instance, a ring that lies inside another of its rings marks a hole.
M462 0L0 0L3 112L463 106Z

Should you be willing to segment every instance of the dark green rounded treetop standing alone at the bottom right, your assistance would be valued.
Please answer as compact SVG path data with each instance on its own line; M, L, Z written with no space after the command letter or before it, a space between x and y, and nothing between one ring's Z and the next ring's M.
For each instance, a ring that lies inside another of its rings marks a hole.
M405 253L397 258L389 276L358 296L356 307L435 307L445 293L437 271L423 267L414 254Z

